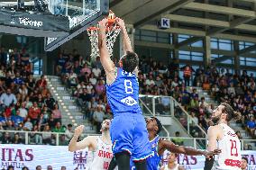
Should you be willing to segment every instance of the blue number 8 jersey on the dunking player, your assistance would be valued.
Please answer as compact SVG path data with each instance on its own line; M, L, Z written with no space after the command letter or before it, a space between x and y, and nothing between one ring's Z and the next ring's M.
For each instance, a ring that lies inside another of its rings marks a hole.
M114 82L105 86L107 101L114 116L122 112L142 113L139 106L139 83L135 74L118 67Z

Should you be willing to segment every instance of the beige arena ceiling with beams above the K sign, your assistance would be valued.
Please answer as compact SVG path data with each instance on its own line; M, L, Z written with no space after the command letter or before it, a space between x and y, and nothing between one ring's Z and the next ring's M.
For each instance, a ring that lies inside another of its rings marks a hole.
M256 0L110 0L110 8L135 28L192 35L178 48L206 36L256 43ZM161 17L170 19L169 29L157 27Z

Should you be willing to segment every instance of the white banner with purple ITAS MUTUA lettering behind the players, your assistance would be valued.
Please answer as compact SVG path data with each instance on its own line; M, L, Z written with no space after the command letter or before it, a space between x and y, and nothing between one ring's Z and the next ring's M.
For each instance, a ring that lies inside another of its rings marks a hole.
M256 151L242 151L242 156L248 158L247 170L256 170ZM23 166L29 169L35 169L36 166L41 166L42 169L47 166L52 166L53 169L60 169L61 166L66 166L69 170L87 169L89 159L87 150L72 153L67 146L38 145L1 145L0 157L0 169L12 165L15 170L21 170ZM165 163L166 157L163 158ZM187 170L203 170L205 157L179 155L178 164L185 166Z

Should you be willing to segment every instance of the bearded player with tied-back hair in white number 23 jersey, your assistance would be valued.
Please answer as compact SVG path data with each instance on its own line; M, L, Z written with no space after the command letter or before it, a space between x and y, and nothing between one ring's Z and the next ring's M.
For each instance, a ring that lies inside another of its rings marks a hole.
M220 148L222 153L214 159L207 160L205 170L240 170L241 143L235 132L227 125L229 121L239 120L241 114L234 112L227 103L221 103L213 112L211 120L216 124L207 131L208 151Z

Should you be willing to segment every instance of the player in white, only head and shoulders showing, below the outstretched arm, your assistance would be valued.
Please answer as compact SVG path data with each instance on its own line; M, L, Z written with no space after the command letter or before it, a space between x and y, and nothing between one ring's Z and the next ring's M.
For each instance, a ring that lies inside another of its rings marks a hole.
M160 170L185 170L183 166L178 165L177 157L178 157L178 154L169 152L167 156L168 164L165 166L162 166Z

